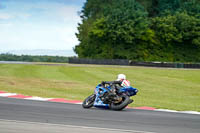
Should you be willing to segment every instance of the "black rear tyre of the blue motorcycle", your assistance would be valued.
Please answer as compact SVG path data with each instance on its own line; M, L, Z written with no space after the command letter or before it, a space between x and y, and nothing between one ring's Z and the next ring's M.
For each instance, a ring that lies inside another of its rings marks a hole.
M122 101L120 103L111 103L110 104L110 108L112 110L122 110L124 109L128 104L129 104L129 100L130 100L130 97L127 96L127 95L122 95Z

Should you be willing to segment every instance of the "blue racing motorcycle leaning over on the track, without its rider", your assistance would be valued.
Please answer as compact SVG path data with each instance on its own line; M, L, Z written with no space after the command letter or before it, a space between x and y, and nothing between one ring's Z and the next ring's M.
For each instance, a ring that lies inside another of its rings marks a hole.
M136 95L138 90L131 86L121 87L114 82L105 82L96 86L94 94L88 96L82 103L83 108L107 108L122 110L132 103L131 96Z

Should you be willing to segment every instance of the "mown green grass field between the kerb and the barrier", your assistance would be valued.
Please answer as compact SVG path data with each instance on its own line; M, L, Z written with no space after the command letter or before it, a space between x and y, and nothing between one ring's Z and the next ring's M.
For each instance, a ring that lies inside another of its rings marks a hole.
M131 106L200 111L200 70L0 64L0 90L83 100L98 83L115 80L119 73L139 89Z

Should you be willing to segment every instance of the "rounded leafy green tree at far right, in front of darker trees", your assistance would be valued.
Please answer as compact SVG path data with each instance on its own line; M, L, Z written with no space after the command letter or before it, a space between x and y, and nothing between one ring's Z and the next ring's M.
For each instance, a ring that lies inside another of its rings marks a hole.
M171 56L169 61L200 61L200 19L177 12L154 18L152 29L163 44L162 49Z

